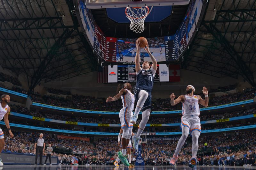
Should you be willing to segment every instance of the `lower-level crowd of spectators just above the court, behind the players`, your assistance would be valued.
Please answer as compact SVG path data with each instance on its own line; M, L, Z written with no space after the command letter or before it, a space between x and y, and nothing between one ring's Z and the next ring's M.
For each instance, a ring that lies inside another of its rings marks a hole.
M4 131L4 133L8 133ZM255 166L256 137L255 131L222 133L217 135L201 135L199 137L198 164L200 165L235 165ZM39 133L16 132L14 138L5 137L5 152L34 154L34 143ZM85 136L84 136L85 137ZM84 165L113 165L116 152L120 150L117 137L91 137L90 142L68 138L58 138L54 134L44 134L46 146L52 144L52 156L57 156L60 164L72 164L78 160ZM142 157L146 165L169 165L175 151L179 136L148 136L147 143L142 145ZM192 138L188 137L179 153L177 165L188 165L191 159ZM80 158L72 153L63 154L66 150L87 151ZM89 153L91 151L91 153ZM58 152L58 153L56 153ZM203 155L204 153L204 155ZM46 153L44 153L46 154ZM132 150L132 163L136 152Z

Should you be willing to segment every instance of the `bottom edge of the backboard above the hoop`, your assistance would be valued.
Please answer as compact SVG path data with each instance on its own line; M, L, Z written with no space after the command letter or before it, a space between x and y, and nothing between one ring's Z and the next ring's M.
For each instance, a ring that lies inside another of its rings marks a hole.
M142 6L168 6L186 5L189 0L86 0L86 7L91 9L99 8L121 8L121 7L142 7Z

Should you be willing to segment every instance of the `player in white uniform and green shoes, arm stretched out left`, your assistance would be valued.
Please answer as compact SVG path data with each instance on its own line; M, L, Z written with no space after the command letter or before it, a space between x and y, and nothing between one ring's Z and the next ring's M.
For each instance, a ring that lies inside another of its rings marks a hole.
M118 94L114 97L108 97L106 102L116 101L120 97L122 97L123 108L119 112L119 118L121 122L121 127L123 129L122 135L122 151L119 151L118 158L124 163L125 166L129 166L129 162L125 158L126 156L126 148L129 144L130 138L132 136L132 129L130 125L130 120L132 118L132 110L134 108L134 95L131 92L132 85L130 83L124 83L122 87L118 87ZM132 125L133 127L133 125Z

